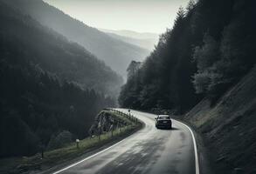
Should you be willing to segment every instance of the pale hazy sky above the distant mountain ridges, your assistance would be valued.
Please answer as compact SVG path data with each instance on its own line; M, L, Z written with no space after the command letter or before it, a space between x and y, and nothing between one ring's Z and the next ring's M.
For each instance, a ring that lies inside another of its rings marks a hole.
M45 0L89 26L162 33L189 0Z

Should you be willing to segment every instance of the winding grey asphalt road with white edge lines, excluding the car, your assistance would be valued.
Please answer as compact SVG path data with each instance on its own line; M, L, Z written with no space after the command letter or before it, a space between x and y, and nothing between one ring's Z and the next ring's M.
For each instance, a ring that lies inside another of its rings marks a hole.
M157 130L156 115L135 110L131 114L144 122L142 130L54 174L199 174L195 139L188 126L172 120L173 130Z

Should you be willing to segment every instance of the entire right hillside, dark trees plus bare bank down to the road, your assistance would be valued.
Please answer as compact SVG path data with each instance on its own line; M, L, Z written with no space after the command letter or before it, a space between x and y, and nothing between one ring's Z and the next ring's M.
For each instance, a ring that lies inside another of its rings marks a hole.
M255 8L190 1L119 97L122 107L187 113L180 119L202 133L215 173L256 172Z

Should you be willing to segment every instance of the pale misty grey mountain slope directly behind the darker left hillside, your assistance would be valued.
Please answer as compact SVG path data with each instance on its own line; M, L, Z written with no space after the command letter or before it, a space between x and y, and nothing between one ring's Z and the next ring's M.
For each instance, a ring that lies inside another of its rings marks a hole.
M149 50L109 37L42 0L3 1L29 14L39 23L56 30L69 40L79 43L123 77L126 77L126 68L131 60L139 61L149 54Z

